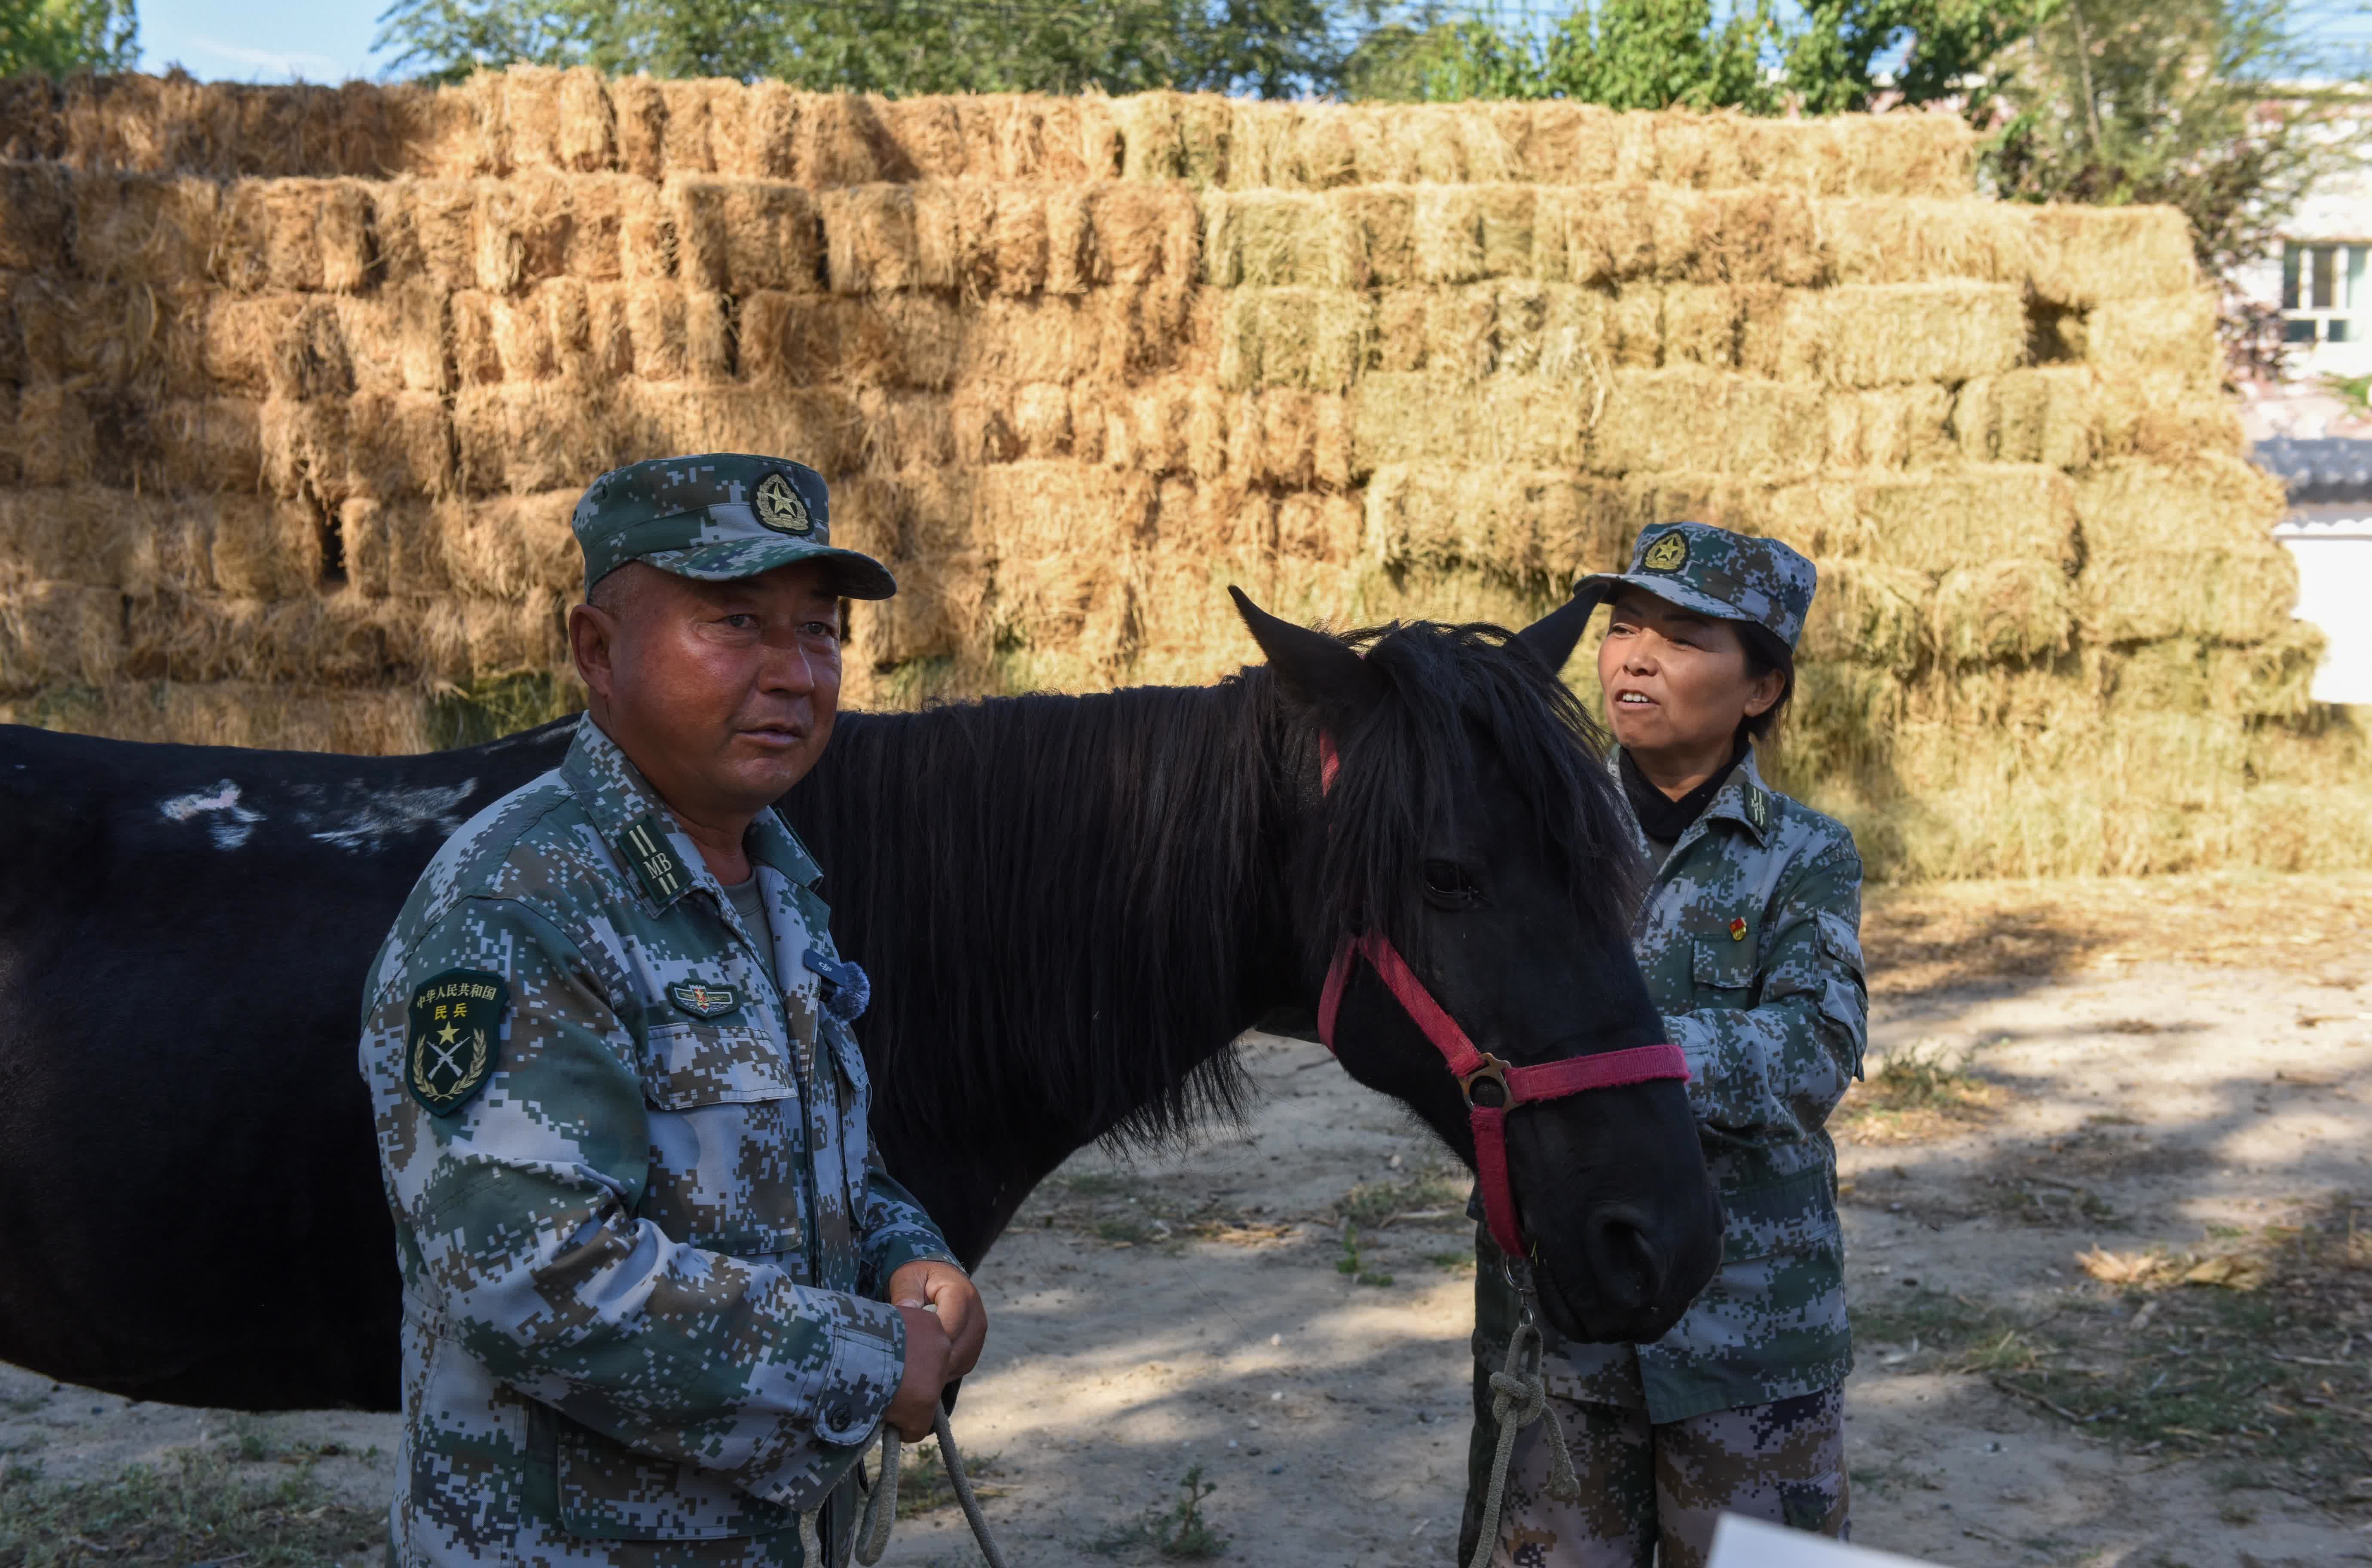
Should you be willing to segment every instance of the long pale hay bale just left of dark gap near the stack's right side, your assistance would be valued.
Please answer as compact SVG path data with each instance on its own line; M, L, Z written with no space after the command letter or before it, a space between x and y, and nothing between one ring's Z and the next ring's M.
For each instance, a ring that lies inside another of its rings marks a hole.
M1964 382L2026 358L2026 301L1983 282L1853 285L1748 311L1741 363L1784 382Z

